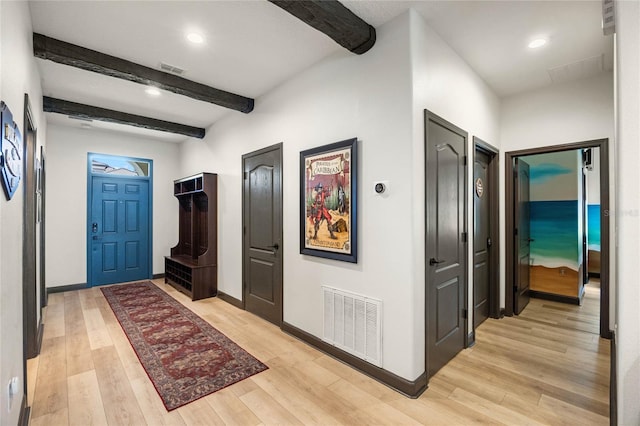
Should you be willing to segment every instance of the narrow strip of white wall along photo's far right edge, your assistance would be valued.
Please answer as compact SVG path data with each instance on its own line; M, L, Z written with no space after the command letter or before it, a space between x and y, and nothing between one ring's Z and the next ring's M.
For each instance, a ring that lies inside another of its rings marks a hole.
M618 423L640 424L640 4L616 2Z

